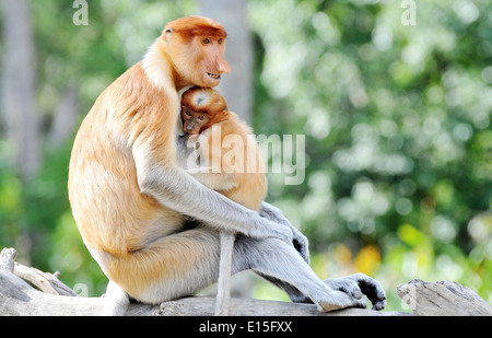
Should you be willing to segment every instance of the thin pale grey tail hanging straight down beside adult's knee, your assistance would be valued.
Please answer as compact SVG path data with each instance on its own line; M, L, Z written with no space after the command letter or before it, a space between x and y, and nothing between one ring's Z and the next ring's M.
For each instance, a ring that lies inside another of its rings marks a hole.
M219 288L216 292L215 316L226 316L229 314L229 303L231 299L231 272L232 255L234 249L235 235L221 232L221 260L219 268Z

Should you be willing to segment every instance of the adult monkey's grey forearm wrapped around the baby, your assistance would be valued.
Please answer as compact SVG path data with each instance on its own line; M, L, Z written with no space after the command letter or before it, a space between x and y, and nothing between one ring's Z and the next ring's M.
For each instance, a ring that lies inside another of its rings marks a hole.
M154 197L163 206L218 230L257 238L276 237L293 245L293 232L286 224L260 217L209 189L177 166L163 166L152 152L133 149L133 159L140 191Z

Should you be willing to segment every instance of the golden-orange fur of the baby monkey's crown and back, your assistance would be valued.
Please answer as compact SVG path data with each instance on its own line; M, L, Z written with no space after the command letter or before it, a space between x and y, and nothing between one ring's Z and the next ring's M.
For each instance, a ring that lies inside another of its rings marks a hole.
M212 89L192 88L186 91L181 97L181 106L195 114L209 116L210 119L198 130L207 138L206 142L209 145L207 148L200 145L200 149L208 150L202 154L208 158L208 164L220 164L219 167L213 167L214 172L197 178L204 185L209 185L208 183L213 179L210 188L239 205L259 211L267 195L267 179L263 159L251 137L251 129L236 114L229 110L224 97ZM212 126L216 128L214 131L211 129ZM220 140L213 140L214 136L220 136ZM239 144L227 147L227 137L231 136L239 138L242 140ZM224 155L232 156L233 161L225 161Z

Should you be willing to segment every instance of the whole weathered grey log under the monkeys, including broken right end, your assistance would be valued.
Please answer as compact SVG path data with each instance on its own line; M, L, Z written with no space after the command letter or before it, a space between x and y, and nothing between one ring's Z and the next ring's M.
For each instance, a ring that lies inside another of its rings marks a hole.
M0 316L94 316L102 313L103 298L82 298L65 285L57 273L14 264L15 249L0 254ZM34 289L26 278L42 291ZM492 305L469 288L455 282L412 280L397 288L413 315L492 315ZM130 304L129 316L213 316L215 298L190 296L160 305ZM409 313L345 308L319 312L314 304L232 299L232 316L406 316Z

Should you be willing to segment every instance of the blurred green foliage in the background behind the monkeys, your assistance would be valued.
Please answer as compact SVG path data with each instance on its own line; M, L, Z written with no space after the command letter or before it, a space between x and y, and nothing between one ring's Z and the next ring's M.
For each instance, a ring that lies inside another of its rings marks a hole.
M268 200L309 237L321 278L366 272L390 310L412 278L456 280L492 302L492 3L418 1L417 25L401 23L400 4L248 1L255 132L306 136L306 179L270 174ZM32 10L47 120L72 83L82 119L166 22L199 13L191 0L90 1L90 25L74 26L70 1ZM70 150L45 147L23 183L0 135L0 247L99 295L106 279L68 203ZM256 295L283 298L266 284Z

